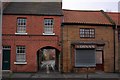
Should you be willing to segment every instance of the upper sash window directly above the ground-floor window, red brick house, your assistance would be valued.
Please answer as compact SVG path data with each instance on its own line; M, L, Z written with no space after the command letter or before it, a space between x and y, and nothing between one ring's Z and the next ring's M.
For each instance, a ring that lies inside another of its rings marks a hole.
M26 33L26 18L17 19L17 33Z

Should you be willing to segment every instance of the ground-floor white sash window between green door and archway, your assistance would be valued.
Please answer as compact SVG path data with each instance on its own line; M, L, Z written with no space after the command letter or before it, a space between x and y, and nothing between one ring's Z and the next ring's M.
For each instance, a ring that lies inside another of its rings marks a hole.
M26 61L26 48L25 46L16 47L16 62L25 62Z

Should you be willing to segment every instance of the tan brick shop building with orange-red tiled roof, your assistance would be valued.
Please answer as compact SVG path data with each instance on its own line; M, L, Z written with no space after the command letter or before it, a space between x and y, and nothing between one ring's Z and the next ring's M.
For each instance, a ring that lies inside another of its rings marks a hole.
M103 11L63 10L63 72L115 71L114 24Z

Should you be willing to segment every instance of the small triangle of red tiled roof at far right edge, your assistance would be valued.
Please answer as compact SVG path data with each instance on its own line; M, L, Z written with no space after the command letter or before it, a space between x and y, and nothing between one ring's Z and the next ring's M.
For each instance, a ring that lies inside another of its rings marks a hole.
M111 18L118 26L120 26L120 13L118 13L118 12L107 12L107 14L110 16L110 18Z

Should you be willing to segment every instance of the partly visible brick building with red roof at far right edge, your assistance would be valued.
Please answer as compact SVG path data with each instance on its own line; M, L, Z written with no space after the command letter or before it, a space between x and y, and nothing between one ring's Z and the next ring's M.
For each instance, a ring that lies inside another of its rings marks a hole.
M120 13L118 12L107 12L110 18L115 22L115 40L116 40L116 66L117 71L120 71ZM118 56L118 57L117 57Z

